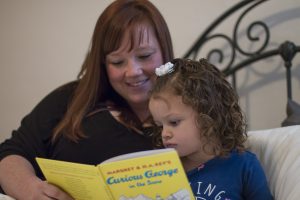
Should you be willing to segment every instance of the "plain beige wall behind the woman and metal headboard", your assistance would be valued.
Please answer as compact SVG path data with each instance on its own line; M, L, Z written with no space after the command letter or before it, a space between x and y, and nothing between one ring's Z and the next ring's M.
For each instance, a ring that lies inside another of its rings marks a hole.
M48 92L75 79L95 22L110 2L0 0L0 141L10 136L22 117ZM218 14L238 0L152 2L165 16L173 37L175 55L180 57ZM300 14L297 11L300 13L298 0L272 0L248 19L261 16L260 19L271 25L271 32L276 36L272 43L274 46L286 39L300 45ZM232 25L225 25L220 30L226 32L231 29ZM293 67L293 95L300 102L298 57ZM265 65L274 65L275 68L264 68ZM249 116L252 130L278 127L285 117L286 90L283 71L277 70L280 65L282 62L278 59L270 59L263 67L241 75L241 103ZM260 81L268 72L274 72L272 80ZM259 84L253 80L258 80ZM267 92L270 93L268 97Z

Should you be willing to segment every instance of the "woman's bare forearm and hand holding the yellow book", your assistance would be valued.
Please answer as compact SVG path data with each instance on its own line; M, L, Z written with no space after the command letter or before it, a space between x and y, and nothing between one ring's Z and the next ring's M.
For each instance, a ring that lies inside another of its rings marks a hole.
M72 199L58 187L39 179L32 165L18 155L0 161L0 184L7 195L18 200Z

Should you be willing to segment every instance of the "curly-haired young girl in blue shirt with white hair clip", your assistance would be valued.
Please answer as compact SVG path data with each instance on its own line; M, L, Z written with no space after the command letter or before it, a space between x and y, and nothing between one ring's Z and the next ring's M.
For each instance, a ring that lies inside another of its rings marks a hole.
M150 112L158 145L175 148L196 199L273 199L256 156L245 149L238 96L205 59L175 59L155 71Z

